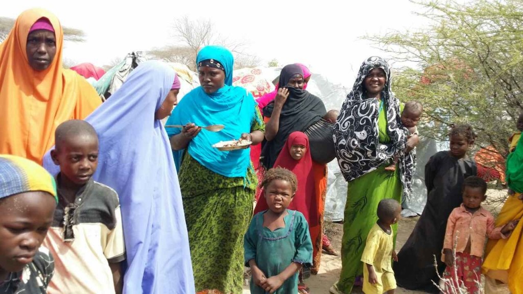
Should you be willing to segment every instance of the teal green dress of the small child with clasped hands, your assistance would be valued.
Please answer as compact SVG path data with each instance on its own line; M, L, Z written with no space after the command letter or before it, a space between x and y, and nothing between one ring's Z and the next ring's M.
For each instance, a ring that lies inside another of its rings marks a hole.
M249 266L249 261L255 259L256 265L267 278L278 275L293 262L311 266L312 241L309 225L303 214L288 209L287 216L283 217L285 228L271 231L263 226L263 214L266 211L254 216L245 233L245 266ZM252 277L250 285L252 294L268 293L256 286ZM298 273L283 282L274 293L298 293Z

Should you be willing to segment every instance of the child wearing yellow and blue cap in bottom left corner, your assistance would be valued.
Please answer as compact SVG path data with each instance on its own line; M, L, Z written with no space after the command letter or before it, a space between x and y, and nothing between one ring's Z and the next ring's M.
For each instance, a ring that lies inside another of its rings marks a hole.
M0 293L46 293L54 259L40 245L57 202L56 184L43 167L0 155Z

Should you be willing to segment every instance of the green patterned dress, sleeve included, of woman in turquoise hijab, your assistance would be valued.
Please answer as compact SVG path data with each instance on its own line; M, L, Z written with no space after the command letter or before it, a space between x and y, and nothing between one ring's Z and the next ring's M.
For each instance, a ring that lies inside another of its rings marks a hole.
M251 132L265 132L258 107ZM196 291L241 293L243 235L253 215L258 178L251 167L246 178L212 172L185 152L178 175L189 233Z

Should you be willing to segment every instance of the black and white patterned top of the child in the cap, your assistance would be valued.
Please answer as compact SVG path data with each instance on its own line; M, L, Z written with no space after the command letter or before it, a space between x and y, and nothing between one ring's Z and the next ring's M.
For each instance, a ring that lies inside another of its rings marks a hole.
M46 294L53 274L53 256L46 248L40 247L32 263L21 272L9 273L0 284L0 294Z

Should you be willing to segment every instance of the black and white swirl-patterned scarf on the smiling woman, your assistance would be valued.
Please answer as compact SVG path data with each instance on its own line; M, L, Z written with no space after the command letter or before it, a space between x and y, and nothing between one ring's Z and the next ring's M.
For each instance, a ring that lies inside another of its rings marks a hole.
M380 68L385 72L385 86L381 93L387 117L387 134L391 142L378 141L379 101L367 98L363 81L369 72ZM370 173L400 155L400 178L404 195L412 194L414 159L405 155L408 130L401 125L400 101L391 91L389 64L378 56L365 60L360 67L353 90L347 95L338 120L334 125L336 157L343 176L351 181ZM411 152L412 153L412 152Z

